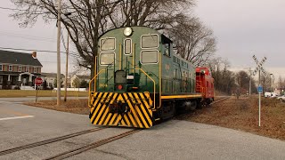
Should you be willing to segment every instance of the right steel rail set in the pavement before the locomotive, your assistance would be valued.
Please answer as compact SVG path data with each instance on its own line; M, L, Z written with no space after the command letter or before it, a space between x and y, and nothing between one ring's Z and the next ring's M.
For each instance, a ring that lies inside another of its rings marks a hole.
M89 149L100 147L100 146L102 146L104 144L110 143L111 141L122 139L122 138L124 138L124 137L126 137L128 135L134 134L134 132L139 132L139 131L142 131L142 130L134 129L134 130L131 130L131 131L128 131L128 132L123 132L121 134L118 134L116 136L113 136L113 137L110 137L110 138L107 138L107 139L104 139L104 140L95 141L94 143L91 143L91 144L86 145L84 147L76 148L76 149L73 149L73 150L69 150L67 152L63 152L63 153L58 154L56 156L48 157L45 160L51 160L51 159L57 160L57 159L64 159L64 158L67 158L67 157L70 157L70 156L75 156L75 155L78 155L78 154L80 154L82 152L85 152L85 151L87 151Z

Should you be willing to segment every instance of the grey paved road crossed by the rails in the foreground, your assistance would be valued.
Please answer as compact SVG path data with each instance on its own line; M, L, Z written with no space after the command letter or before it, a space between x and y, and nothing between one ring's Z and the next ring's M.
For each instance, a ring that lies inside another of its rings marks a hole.
M0 150L95 128L88 116L0 101ZM4 119L20 116L24 118ZM129 129L107 128L72 140L0 156L0 159L43 159L126 131ZM285 159L285 141L214 125L171 120L69 159L150 158Z

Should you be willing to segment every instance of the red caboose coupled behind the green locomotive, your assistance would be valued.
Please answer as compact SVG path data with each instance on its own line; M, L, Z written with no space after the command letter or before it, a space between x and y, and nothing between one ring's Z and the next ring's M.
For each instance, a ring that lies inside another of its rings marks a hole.
M196 92L202 93L207 104L214 101L214 78L208 68L196 68Z

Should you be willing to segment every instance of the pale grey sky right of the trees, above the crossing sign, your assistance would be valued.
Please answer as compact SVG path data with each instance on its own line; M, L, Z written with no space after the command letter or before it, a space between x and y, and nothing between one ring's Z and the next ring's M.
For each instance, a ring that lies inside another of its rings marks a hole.
M214 30L216 56L231 63L233 71L264 68L275 77L285 77L284 0L198 0L195 14Z

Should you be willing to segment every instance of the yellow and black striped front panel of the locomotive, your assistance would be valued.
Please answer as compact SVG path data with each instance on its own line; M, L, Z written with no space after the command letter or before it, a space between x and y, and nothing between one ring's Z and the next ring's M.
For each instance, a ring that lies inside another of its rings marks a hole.
M92 124L136 128L152 126L153 102L149 92L92 92L90 96Z

